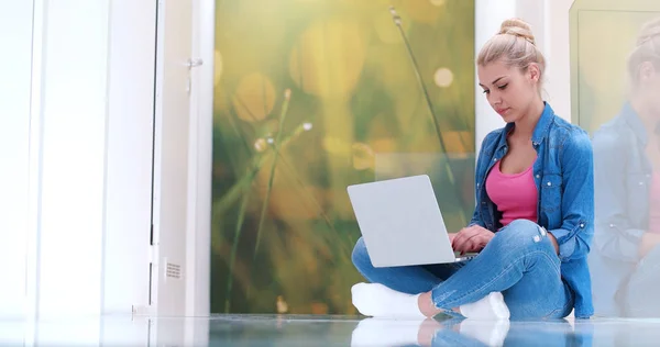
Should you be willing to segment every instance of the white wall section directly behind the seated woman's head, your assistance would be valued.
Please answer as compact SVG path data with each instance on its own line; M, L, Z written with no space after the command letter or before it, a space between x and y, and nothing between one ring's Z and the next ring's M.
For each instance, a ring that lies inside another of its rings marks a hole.
M476 0L475 54L499 31L502 22L520 18L531 25L537 44L547 59L544 99L554 112L571 120L569 10L574 0ZM504 122L493 111L475 81L476 149L483 138Z

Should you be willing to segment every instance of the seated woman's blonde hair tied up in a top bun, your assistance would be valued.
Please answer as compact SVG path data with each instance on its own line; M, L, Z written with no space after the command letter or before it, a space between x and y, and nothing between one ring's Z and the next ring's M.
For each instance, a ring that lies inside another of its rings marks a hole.
M546 58L536 46L531 27L520 19L509 19L502 23L499 33L491 37L482 47L476 64L486 66L502 59L508 67L526 71L530 64L537 64L541 71L539 82L546 70Z

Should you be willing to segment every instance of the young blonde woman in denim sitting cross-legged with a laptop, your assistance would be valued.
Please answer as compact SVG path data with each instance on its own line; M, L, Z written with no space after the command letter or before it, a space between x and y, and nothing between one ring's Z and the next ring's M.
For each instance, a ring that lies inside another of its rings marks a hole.
M593 313L586 256L593 236L588 135L541 99L546 68L529 25L507 20L477 57L480 86L506 121L476 164L476 209L452 237L462 264L374 268L360 239L353 262L371 282L353 286L370 316L561 318Z

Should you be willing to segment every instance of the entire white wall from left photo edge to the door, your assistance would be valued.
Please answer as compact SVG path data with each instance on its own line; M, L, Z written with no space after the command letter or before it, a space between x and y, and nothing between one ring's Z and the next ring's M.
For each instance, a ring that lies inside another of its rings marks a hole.
M3 316L148 304L154 26L146 2L0 2Z

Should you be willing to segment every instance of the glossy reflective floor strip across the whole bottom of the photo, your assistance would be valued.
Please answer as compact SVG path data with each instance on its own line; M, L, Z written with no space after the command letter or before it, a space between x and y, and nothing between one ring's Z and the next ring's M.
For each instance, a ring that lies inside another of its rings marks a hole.
M1 346L657 346L660 320L480 322L215 315L0 320Z

